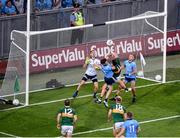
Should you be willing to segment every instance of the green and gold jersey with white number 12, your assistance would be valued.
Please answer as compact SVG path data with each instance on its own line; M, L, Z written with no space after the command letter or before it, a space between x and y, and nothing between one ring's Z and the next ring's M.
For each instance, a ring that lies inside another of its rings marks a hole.
M70 107L64 107L59 111L61 113L62 119L61 119L61 126L73 126L73 119L74 115L76 115L74 109Z

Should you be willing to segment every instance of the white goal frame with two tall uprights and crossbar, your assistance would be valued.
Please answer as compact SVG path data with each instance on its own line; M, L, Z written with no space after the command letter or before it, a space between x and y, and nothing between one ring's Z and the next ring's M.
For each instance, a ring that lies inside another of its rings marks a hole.
M12 32L18 32L18 33L24 34L26 36L26 51L25 51L26 52L26 89L25 89L26 91L25 91L25 105L24 106L29 105L30 38L31 38L31 36L34 36L34 35L40 35L40 34L46 34L46 33L68 31L68 30L75 30L75 29L82 29L82 28L90 28L90 27L95 27L95 26L110 25L110 24L116 24L116 23L124 23L124 22L136 21L136 20L141 20L141 19L145 19L147 21L147 19L154 18L154 17L164 17L164 19L163 19L164 26L163 26L163 30L161 30L161 33L163 33L163 41L164 41L163 46L162 46L162 50L163 50L162 83L166 83L166 52L167 52L166 40L167 40L167 5L168 5L168 0L164 0L164 11L163 12L155 13L152 15L143 15L143 16L126 18L126 19L107 21L107 22L104 22L101 24L86 24L86 25L82 25L82 26L66 27L66 28L44 30L44 31L31 31L31 29L30 29L30 9L31 9L30 5L31 5L30 0L27 0L26 31L25 32L17 31L17 30L12 31ZM153 27L153 25L150 25L150 26ZM11 32L11 36L12 36L12 32Z

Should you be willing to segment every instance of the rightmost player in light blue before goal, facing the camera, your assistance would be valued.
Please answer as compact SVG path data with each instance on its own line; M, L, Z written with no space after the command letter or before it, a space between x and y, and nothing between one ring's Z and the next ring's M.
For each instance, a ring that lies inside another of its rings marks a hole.
M136 73L137 73L137 66L134 62L134 56L132 54L129 55L128 60L124 61L124 65L122 68L125 68L125 79L124 83L131 83L131 91L133 94L132 102L136 101Z

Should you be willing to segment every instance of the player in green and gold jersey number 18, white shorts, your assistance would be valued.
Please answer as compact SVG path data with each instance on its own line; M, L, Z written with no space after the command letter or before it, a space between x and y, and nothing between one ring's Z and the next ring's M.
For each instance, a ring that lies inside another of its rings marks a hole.
M124 123L124 115L126 113L125 107L121 104L122 98L116 96L116 103L112 104L108 112L108 121L110 122L113 118L113 136L117 137L117 134L121 131L122 125Z

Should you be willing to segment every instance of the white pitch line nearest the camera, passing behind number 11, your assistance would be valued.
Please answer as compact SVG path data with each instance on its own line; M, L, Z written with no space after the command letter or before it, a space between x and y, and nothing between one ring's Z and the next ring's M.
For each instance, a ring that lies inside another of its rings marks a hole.
M169 117L163 117L163 118L158 118L158 119L152 119L152 120L147 120L147 121L141 121L139 124L146 124L146 123L151 123L151 122L157 122L157 121L163 121L163 120L168 120L168 119L174 119L174 118L179 118L180 115L175 115L175 116L169 116ZM90 131L84 131L84 132L77 132L74 133L73 136L76 135L82 135L82 134L89 134L93 132L98 132L98 131L106 131L106 130L111 130L113 127L107 127L107 128L100 128L100 129L95 129L95 130L90 130Z

